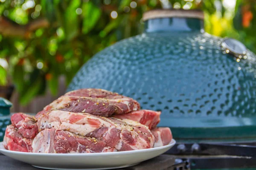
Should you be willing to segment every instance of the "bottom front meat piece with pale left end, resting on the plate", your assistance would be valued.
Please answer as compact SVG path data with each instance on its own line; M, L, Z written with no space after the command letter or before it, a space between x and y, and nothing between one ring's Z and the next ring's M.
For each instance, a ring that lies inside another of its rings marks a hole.
M79 136L64 130L44 129L35 137L34 153L100 153L115 152L104 141Z

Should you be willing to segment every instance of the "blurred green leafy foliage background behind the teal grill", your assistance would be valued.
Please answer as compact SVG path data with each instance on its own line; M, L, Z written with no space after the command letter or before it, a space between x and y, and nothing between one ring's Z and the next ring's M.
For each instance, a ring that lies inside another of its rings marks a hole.
M202 9L209 34L236 38L256 52L253 0L134 2L0 0L0 84L13 83L23 105L47 88L56 95L60 75L68 84L94 54L142 33L142 14L154 8ZM111 17L113 11L116 18Z

